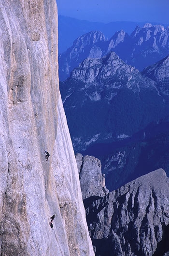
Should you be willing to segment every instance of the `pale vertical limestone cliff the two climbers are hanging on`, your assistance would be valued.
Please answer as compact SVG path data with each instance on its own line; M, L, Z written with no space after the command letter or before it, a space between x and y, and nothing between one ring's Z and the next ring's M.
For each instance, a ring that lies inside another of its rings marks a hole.
M55 0L0 0L0 255L94 255L59 95Z

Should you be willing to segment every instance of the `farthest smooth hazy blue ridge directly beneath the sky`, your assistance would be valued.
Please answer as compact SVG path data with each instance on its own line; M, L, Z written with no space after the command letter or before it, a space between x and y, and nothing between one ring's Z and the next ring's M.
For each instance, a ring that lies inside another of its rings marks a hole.
M116 31L124 29L128 34L131 34L134 28L139 25L142 27L145 22L133 21L114 21L110 23L91 22L87 20L79 20L72 17L58 15L58 50L59 54L65 52L79 36L88 33L92 30L102 31L106 38L110 39ZM155 25L155 22L151 22ZM164 27L169 24L162 24Z

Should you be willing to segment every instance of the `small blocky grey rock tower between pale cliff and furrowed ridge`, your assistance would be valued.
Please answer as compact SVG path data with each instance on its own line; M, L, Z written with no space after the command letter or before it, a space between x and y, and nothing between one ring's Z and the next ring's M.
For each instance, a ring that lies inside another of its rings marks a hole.
M104 174L101 173L100 160L94 156L82 156L79 153L75 157L79 171L82 198L104 197L108 194L109 190L105 186Z

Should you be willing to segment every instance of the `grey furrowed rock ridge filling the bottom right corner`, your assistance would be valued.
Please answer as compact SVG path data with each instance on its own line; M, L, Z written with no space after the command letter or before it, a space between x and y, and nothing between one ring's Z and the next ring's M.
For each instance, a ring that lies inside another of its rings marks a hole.
M85 199L96 256L164 256L169 252L169 178L159 169L103 198Z

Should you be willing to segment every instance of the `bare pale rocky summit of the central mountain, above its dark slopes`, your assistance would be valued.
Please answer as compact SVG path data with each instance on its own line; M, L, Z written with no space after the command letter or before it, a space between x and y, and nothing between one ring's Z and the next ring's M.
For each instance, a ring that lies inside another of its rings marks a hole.
M102 79L108 81L113 78L113 80L117 79L117 81L119 79L129 81L131 79L130 74L133 71L139 74L139 71L127 65L112 51L101 58L84 59L79 67L71 72L70 78L81 80L84 83L93 83L95 81L95 85L98 84L98 88L101 88L100 81Z

